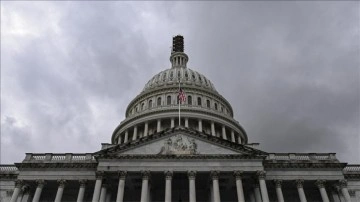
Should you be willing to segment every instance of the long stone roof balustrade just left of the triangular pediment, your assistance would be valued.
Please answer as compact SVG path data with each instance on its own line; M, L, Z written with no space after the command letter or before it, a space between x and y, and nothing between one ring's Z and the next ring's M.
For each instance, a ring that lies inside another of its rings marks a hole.
M94 156L91 153L82 153L82 154L33 154L26 153L26 157L23 162L31 161L45 161L45 162L91 162L95 161Z

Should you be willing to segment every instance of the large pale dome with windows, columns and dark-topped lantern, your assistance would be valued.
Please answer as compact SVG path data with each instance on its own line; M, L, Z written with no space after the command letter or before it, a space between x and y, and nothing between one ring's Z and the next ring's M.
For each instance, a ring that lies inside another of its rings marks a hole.
M209 79L187 68L188 60L183 37L175 36L171 68L153 76L129 103L125 120L113 132L113 144L136 141L176 127L247 144L246 132L233 118L230 103ZM180 88L185 101L179 104Z

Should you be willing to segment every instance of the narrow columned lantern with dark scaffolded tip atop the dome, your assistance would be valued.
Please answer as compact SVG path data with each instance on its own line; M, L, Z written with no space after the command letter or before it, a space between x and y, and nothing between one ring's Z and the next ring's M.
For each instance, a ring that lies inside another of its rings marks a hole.
M170 56L171 68L186 68L189 57L184 53L184 37L176 35L173 37L173 45Z

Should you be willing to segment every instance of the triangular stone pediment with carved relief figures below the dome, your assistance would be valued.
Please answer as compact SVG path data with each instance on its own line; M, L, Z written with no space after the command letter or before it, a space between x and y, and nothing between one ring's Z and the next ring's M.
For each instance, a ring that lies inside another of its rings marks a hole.
M128 155L264 155L265 152L188 128L174 128L126 144L100 150L99 157Z

